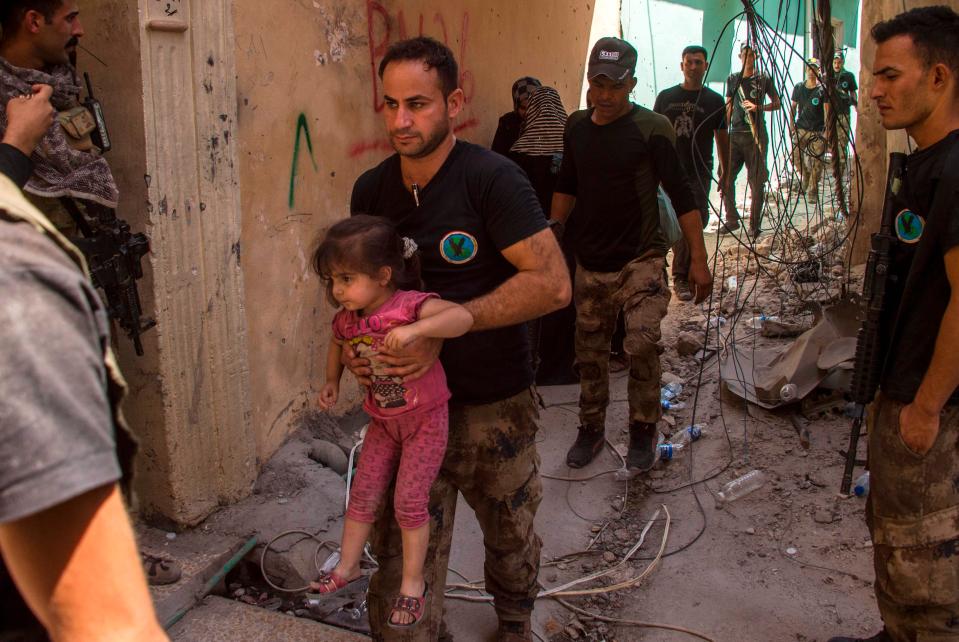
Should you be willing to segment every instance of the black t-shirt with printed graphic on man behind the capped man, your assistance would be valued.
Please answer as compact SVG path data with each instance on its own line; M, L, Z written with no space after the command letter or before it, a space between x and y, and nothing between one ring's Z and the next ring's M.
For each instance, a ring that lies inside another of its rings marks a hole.
M676 85L659 92L653 111L673 124L676 151L690 180L708 184L713 173L713 132L726 129L723 97L708 87L700 91Z

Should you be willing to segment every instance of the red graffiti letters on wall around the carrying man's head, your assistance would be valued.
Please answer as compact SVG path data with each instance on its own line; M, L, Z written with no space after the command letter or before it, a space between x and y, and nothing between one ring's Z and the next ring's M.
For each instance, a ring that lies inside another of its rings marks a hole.
M396 12L396 16L390 16L386 7L376 0L367 0L366 2L366 21L370 46L370 76L373 80L373 110L379 112L383 110L384 106L383 99L380 97L380 61L383 59L383 54L386 53L390 43L409 37L409 32L406 28L406 16L402 9ZM419 32L417 35L433 36L441 40L446 46L451 47L449 32L446 27L446 18L443 14L439 11L434 13L432 22L432 33L426 33L424 24L425 16L420 13L418 24ZM394 33L392 29L394 24L396 25L397 36L395 38L393 37ZM460 87L463 88L466 103L469 104L473 98L474 80L473 72L469 71L467 67L466 54L469 49L469 13L467 12L463 12L460 23L459 44L457 62L460 68Z

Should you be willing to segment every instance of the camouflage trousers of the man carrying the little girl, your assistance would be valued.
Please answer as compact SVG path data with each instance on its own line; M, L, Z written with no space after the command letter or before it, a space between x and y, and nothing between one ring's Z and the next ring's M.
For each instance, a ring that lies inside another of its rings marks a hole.
M410 631L386 626L403 571L401 534L393 518L390 491L370 537L379 562L367 595L374 640L426 641L445 635L443 591L457 491L463 493L483 531L486 590L494 598L497 616L522 622L533 611L542 547L533 520L543 496L534 392L524 390L478 406L450 404L449 410L446 456L430 490L430 543L423 569L431 593L426 619Z

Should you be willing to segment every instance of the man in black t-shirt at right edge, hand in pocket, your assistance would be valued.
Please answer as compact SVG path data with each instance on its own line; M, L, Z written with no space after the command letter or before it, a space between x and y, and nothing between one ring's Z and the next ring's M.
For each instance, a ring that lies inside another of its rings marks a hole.
M912 9L875 25L872 38L870 97L883 127L904 129L918 149L890 162L857 347L856 401L870 401L878 384L869 410L866 519L884 626L868 641L956 640L959 15Z

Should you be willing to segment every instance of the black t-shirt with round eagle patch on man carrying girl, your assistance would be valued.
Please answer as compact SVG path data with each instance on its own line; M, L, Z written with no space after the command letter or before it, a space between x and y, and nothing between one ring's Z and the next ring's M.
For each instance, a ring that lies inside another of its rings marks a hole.
M487 294L516 274L501 251L546 228L523 171L463 141L419 190L418 205L394 154L357 179L350 211L388 218L416 241L426 289L457 303ZM440 361L453 403L499 401L533 382L525 324L447 339Z

